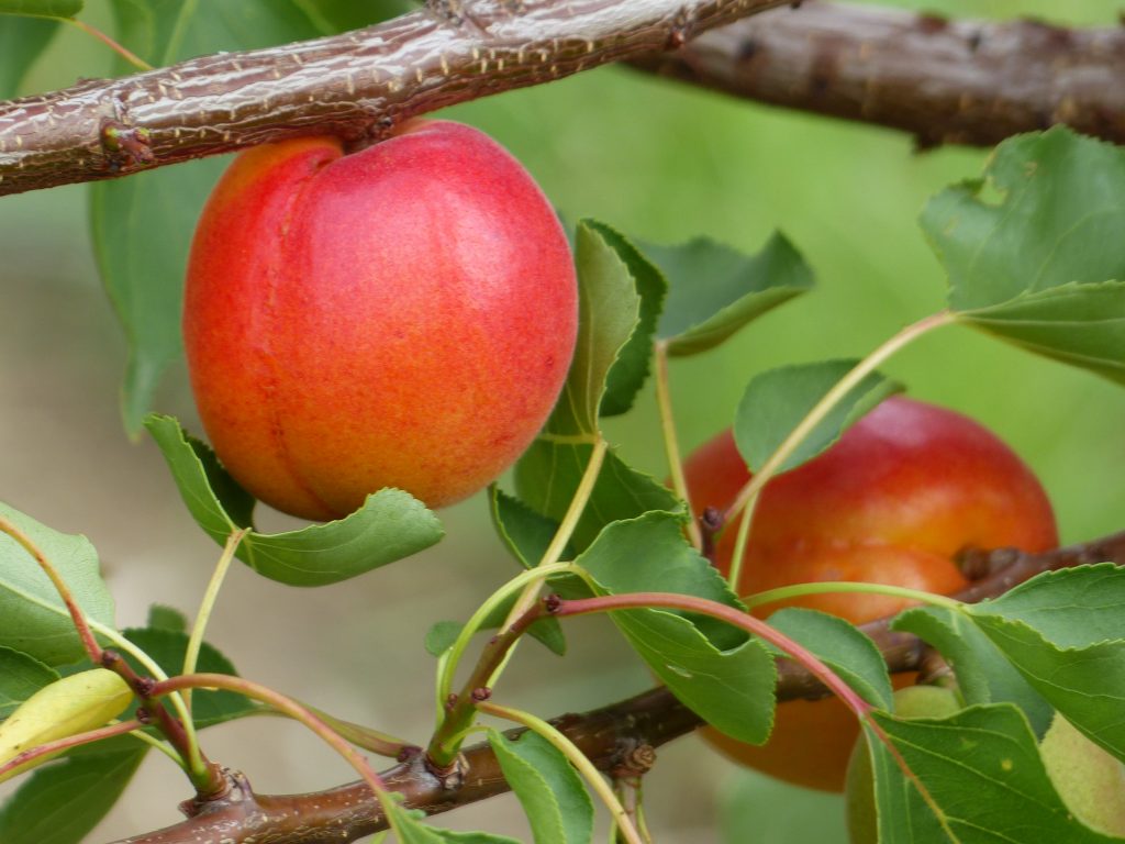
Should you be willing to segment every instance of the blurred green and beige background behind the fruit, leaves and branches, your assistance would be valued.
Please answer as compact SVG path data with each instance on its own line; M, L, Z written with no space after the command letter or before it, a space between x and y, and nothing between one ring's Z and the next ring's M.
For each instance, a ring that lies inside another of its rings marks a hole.
M1092 25L1116 24L1119 8L1114 0L899 5ZM104 3L89 6L84 17L108 27ZM65 87L76 77L106 74L109 66L100 45L68 30L36 64L25 90ZM568 219L593 216L659 242L705 233L747 251L780 228L803 251L817 272L816 291L722 349L673 363L685 448L729 424L756 372L863 356L940 308L943 275L916 217L927 197L979 174L987 156L960 149L918 155L900 134L764 108L615 68L448 114L512 150ZM190 522L152 443L128 442L120 427L124 342L90 253L86 194L76 186L0 200L0 497L53 527L90 536L106 560L122 623L140 623L151 601L192 611L217 549ZM1042 477L1064 541L1123 527L1125 392L1118 387L960 327L926 336L884 371L912 395L970 413L1007 439ZM198 430L182 368L159 404ZM628 460L663 476L652 404L649 389L609 432ZM342 586L286 590L236 569L210 638L246 675L420 740L432 697L425 630L441 619L465 618L514 572L490 535L483 499L447 511L444 519L450 538L438 548ZM288 522L267 517L266 523ZM505 679L511 699L555 715L649 683L612 630L596 620L575 628L572 650L560 662L538 646L522 649ZM206 742L213 756L246 770L260 791L321 788L350 778L343 763L286 725L228 725ZM695 739L660 755L648 791L662 842L843 841L835 798L809 798L741 776ZM176 773L150 760L143 779L91 841L177 819L174 803L186 793ZM800 825L810 819L836 832ZM506 798L442 823L526 838Z

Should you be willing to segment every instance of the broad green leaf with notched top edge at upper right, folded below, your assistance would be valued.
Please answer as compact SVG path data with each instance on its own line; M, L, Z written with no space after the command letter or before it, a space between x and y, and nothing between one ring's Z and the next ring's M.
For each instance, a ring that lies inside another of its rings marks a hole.
M963 322L1125 383L1122 150L1063 127L1011 138L921 226Z

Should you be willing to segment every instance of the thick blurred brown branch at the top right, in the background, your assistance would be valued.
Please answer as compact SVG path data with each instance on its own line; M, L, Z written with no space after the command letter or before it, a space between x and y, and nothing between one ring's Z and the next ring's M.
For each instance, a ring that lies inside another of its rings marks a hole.
M1125 143L1125 27L946 20L808 2L633 64L737 97L902 129L921 147L991 146L1060 123Z

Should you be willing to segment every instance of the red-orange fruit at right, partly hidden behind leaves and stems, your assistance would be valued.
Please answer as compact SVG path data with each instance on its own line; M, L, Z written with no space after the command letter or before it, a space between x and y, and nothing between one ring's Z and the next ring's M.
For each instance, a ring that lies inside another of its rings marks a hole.
M695 451L685 472L695 512L723 510L750 477L729 431ZM716 565L724 574L736 532L730 526L716 548ZM955 563L965 548L1038 551L1056 545L1046 494L1011 449L966 416L893 397L827 451L766 484L737 591L857 581L948 594L966 585ZM766 617L783 605L863 623L907 603L834 593L764 605L755 614ZM746 765L831 791L844 785L857 734L853 716L835 699L786 702L760 747L705 733Z

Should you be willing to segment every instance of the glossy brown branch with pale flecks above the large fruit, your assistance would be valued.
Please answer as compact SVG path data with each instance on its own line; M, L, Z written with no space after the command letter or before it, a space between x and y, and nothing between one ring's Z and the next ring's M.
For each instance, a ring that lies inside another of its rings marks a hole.
M785 0L430 0L331 38L0 104L0 195L308 134L353 144L454 102L682 45Z

